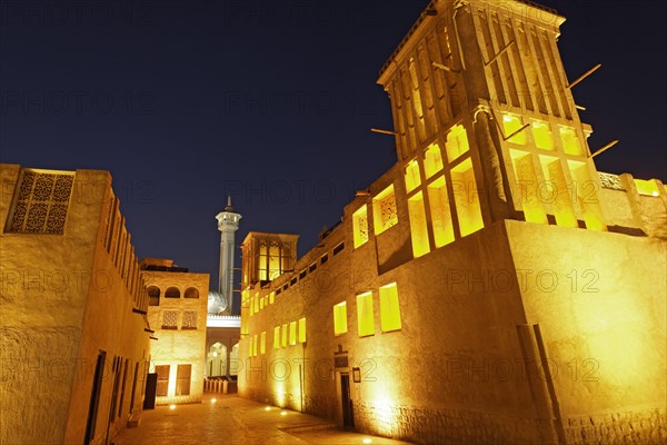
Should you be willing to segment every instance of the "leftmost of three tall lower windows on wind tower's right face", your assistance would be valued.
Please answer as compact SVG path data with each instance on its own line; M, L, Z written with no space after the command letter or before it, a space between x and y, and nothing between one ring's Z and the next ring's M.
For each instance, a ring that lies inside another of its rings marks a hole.
M517 177L514 189L521 201L524 218L528 222L547 224L547 214L539 197L541 184L537 180L532 155L522 150L509 150L509 154Z

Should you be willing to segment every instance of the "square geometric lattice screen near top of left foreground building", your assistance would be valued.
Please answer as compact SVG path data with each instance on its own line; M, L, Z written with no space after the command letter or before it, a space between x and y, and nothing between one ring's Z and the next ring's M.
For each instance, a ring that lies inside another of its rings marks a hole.
M7 231L62 235L74 174L22 172Z

